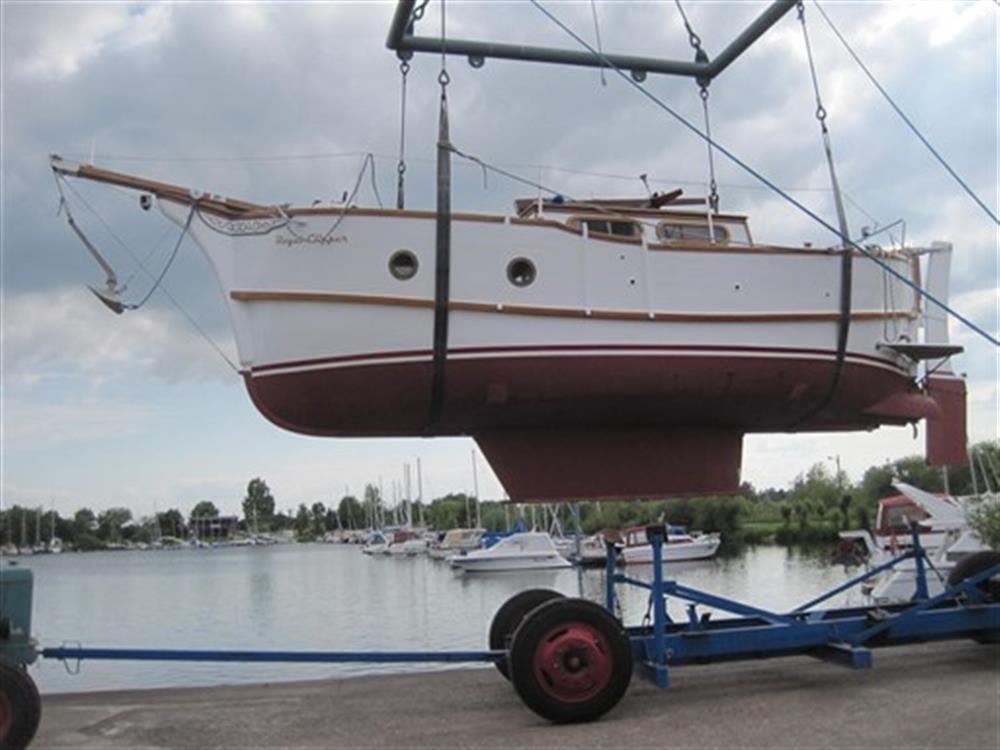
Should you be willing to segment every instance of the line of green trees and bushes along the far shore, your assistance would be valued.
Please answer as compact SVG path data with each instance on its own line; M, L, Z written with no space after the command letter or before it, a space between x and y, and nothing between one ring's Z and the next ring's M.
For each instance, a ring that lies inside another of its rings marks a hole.
M973 446L977 471L974 477L968 466L949 472L952 494L970 495L1000 482L1000 442L992 441ZM831 462L832 463L832 462ZM894 479L930 492L944 490L943 473L924 464L919 457L907 457L880 466L873 466L861 480L852 483L843 472L831 471L831 464L816 464L796 477L788 490L757 490L745 483L734 495L665 500L633 500L628 502L590 502L580 504L583 531L592 534L601 529L621 529L648 523L671 523L705 532L721 532L727 544L826 543L837 538L837 532L850 528L871 528L877 503L895 495ZM295 510L276 510L277 503L267 483L260 477L250 480L243 498L243 520L238 532L292 533L300 541L322 539L331 531L364 529L403 523L400 508L389 508L378 487L365 487L362 499L345 495L329 505L316 500L300 503ZM524 506L528 523L548 527L551 516L539 506ZM510 504L480 501L464 493L453 493L428 503L415 502L414 522L423 520L428 527L450 529L482 526L499 531L516 520L517 510ZM106 549L120 545L152 543L161 537L185 539L191 535L190 520L219 515L215 503L197 503L186 516L177 508L148 518L133 518L127 508L109 508L95 514L90 508L80 508L71 519L54 511L24 508L14 505L0 511L0 544L20 544L22 539L33 543L47 541L51 530L67 548L79 550ZM572 520L563 506L560 521L564 529L572 528ZM980 537L994 549L1000 549L1000 500L983 500L970 512L970 522ZM23 531L22 531L23 530ZM23 537L22 537L23 533Z

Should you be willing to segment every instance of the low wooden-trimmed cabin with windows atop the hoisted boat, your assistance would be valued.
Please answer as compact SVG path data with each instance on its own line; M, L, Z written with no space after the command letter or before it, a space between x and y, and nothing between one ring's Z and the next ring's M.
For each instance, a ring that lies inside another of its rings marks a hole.
M671 196L678 196L671 199ZM603 198L591 201L552 199L515 201L518 218L549 219L593 239L645 242L647 245L706 243L752 245L746 216L683 210L704 204L703 198L680 198L680 191L649 198ZM669 208L668 208L669 207Z

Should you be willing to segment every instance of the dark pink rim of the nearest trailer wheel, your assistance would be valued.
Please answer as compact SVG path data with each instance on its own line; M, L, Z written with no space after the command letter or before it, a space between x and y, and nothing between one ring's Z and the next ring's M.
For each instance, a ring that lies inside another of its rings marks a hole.
M535 649L535 678L548 695L581 703L599 695L614 673L607 639L580 622L553 628Z

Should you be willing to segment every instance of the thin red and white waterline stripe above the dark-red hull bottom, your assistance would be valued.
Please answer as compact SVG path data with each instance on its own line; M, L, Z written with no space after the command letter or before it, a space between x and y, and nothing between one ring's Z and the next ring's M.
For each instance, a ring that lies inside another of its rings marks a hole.
M466 357L468 355L512 355L519 354L542 354L542 353L628 353L637 352L642 354L684 354L685 352L696 352L699 354L725 355L759 355L759 356L788 356L805 357L815 359L817 357L833 359L836 352L829 349L793 349L779 347L757 347L757 346L707 346L707 345L673 345L665 346L659 344L539 344L529 346L470 346L455 347L448 350L450 356ZM378 362L382 360L397 359L429 359L432 356L430 349L409 349L392 352L368 352L364 354L348 354L339 357L320 357L316 359L290 360L287 362L277 362L267 365L251 367L251 375L266 375L278 370L289 370L295 368L317 368L329 365L349 365L363 364L366 362ZM868 354L857 354L848 352L847 357L852 360L862 360L871 364L885 367L906 375L905 370L895 366L892 362Z

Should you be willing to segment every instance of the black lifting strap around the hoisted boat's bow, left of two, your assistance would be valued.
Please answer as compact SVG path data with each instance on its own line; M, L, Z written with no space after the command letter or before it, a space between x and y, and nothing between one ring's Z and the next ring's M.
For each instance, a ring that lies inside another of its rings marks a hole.
M442 71L441 109L438 118L438 191L434 270L434 369L427 434L437 433L444 404L445 366L448 360L448 301L451 279L451 140L448 134L448 74Z

